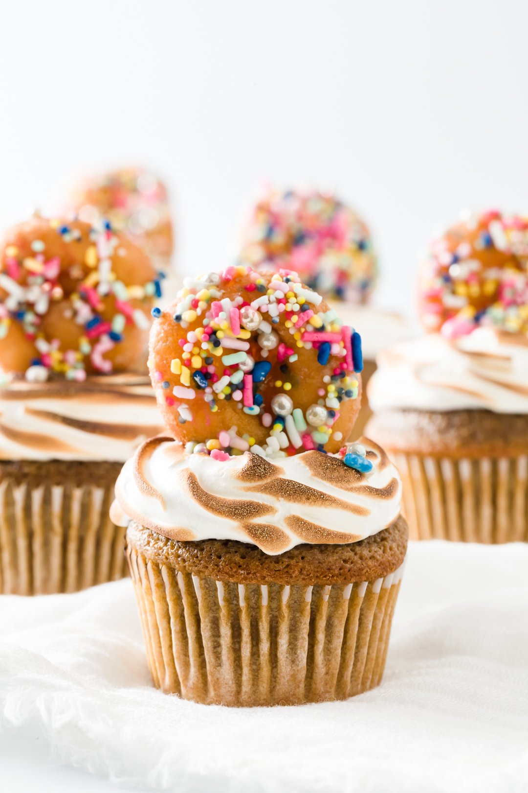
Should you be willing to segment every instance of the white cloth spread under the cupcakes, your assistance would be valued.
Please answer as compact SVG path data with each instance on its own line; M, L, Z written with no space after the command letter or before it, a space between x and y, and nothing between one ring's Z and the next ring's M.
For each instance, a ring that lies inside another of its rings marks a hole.
M528 545L411 543L382 686L289 708L156 691L129 580L4 596L0 730L38 730L50 757L154 790L521 793L527 569Z

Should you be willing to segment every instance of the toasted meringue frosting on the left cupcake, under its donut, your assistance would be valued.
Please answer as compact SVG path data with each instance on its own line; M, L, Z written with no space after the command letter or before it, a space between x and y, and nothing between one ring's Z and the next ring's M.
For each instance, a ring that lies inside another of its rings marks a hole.
M1 460L124 462L161 429L148 377L13 381L0 389Z

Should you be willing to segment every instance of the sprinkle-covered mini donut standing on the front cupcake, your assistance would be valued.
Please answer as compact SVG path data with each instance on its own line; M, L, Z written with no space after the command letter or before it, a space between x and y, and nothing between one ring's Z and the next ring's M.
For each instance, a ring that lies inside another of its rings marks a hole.
M337 452L359 412L359 334L297 273L248 266L186 278L150 331L166 427L188 450ZM216 452L215 452L216 453Z

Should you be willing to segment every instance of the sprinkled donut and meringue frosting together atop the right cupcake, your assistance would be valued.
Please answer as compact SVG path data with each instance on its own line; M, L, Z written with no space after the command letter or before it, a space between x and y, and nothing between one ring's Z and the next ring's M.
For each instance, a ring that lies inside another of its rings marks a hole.
M375 412L528 413L528 224L492 211L431 245L420 281L421 338L378 356Z

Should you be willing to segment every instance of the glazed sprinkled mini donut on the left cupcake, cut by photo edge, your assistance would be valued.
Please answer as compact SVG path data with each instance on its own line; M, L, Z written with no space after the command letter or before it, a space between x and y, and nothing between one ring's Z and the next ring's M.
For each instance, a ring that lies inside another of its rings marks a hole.
M160 296L146 253L110 224L32 217L0 244L0 367L40 381L133 370Z

